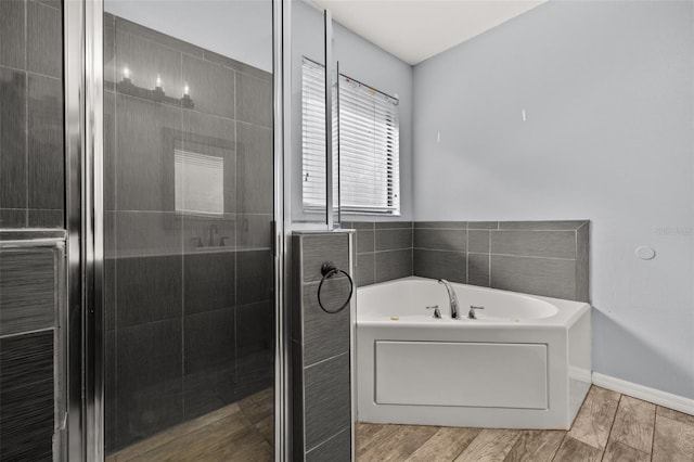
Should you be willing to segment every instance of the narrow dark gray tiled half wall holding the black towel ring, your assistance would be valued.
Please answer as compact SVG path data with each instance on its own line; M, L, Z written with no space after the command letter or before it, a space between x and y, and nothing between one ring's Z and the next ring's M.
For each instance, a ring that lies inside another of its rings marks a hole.
M403 230L411 235L411 229ZM373 234L374 230L370 232ZM333 261L337 268L352 273L350 259L355 252L350 235L354 240L350 232L296 233L292 238L295 460L351 458L351 311L347 306L337 313L326 313L318 301L324 261ZM371 245L373 241L372 236ZM398 248L407 245L401 241L394 233L383 242L388 248ZM320 299L326 309L337 310L347 300L349 291L347 278L333 277L323 283Z

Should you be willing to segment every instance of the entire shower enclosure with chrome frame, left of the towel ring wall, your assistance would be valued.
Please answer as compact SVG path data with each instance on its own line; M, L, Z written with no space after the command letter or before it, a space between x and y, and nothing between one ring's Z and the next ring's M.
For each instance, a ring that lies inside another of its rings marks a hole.
M0 460L283 459L282 15L0 2Z

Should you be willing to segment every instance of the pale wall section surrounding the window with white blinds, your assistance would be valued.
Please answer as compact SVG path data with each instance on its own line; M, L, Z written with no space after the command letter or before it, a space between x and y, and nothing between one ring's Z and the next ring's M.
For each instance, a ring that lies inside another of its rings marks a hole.
M345 215L344 221L412 219L412 66L375 44L333 25L333 53L339 72L400 99L400 217ZM292 1L292 132L290 181L294 221L324 221L325 214L308 215L301 205L301 60L323 63L323 14L303 0Z

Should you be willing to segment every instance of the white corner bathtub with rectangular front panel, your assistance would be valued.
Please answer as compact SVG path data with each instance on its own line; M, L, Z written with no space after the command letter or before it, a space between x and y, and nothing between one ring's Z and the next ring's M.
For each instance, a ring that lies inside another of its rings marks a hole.
M436 280L358 288L359 421L568 429L591 384L590 305L452 286L462 319Z

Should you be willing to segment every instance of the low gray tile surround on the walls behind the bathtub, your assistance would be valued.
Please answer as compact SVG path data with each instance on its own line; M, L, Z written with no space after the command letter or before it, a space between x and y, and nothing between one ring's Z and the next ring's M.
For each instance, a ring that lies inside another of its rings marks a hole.
M400 226L401 223L398 223ZM357 230L357 281L368 285L406 275L445 278L527 294L590 301L588 220L566 221L415 221L412 271L377 274L378 254L393 268L386 247L377 247L373 233L382 229L382 243L396 239L383 222L354 222ZM404 226L404 224L402 224ZM383 244L382 244L383 245ZM374 268L375 262L375 268Z

